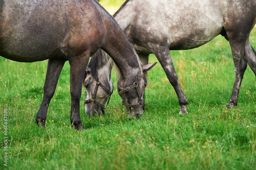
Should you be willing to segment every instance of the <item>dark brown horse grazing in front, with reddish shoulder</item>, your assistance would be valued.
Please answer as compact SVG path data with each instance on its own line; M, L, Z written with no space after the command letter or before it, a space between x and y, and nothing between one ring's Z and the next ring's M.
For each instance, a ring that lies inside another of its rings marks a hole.
M48 59L44 96L36 115L37 124L43 127L60 72L69 61L70 122L77 129L84 128L79 112L82 80L89 57L99 48L120 69L120 87L137 82L137 91L127 91L123 100L134 106L133 112L141 113L137 104L143 101L145 88L145 79L138 80L142 65L122 29L96 0L0 1L0 55L18 62Z

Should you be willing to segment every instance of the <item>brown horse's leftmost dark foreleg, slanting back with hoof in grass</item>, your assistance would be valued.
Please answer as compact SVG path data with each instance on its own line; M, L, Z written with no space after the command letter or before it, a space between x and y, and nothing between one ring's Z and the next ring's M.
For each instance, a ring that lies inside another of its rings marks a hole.
M64 66L64 60L49 59L44 84L44 96L36 115L36 123L45 127L46 113L51 98L55 93L60 72Z

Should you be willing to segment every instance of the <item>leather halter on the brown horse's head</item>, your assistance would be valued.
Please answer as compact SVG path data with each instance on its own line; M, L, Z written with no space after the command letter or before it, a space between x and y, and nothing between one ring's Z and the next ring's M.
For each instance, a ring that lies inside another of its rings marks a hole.
M136 80L135 80L135 82L133 83L132 86L126 87L126 88L122 88L122 87L120 87L120 86L117 85L117 88L120 90L119 94L122 96L122 99L123 99L122 104L123 104L124 106L126 106L126 107L134 107L134 108L135 108L135 107L141 107L141 96L140 96L139 89L138 89L138 82L139 82L139 80L142 80L141 70L138 70ZM126 102L126 98L125 98L126 95L125 95L125 92L126 92L126 91L130 91L130 90L133 89L133 88L136 88L137 94L138 94L138 96L139 96L138 104L128 104L128 103Z

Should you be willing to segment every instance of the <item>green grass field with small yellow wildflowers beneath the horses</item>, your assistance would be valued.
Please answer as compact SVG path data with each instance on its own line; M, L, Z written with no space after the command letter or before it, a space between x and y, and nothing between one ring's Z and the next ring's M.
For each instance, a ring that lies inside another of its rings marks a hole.
M256 28L250 42L256 49ZM65 63L48 113L38 128L47 61L19 63L0 58L0 169L256 169L256 79L249 66L238 106L225 109L234 83L228 42L218 36L192 50L170 51L187 96L180 115L177 95L158 63L148 72L145 111L129 121L114 93L106 116L80 114L87 128L70 126L69 64ZM150 55L150 63L156 62ZM4 109L8 151L4 151Z

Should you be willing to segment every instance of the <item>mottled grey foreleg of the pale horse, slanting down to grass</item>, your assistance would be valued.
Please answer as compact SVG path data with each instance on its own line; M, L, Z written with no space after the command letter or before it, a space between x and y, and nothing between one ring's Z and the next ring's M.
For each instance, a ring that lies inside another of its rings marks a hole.
M179 104L180 104L179 114L188 113L187 112L187 104L189 104L189 103L180 87L180 84L178 81L178 75L175 71L169 48L166 48L166 47L159 48L158 47L155 50L153 49L153 51L154 51L156 58L159 60L161 66L163 67L169 82L173 86L173 88L178 96Z

